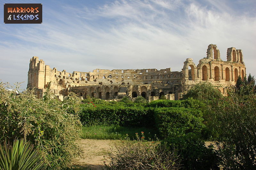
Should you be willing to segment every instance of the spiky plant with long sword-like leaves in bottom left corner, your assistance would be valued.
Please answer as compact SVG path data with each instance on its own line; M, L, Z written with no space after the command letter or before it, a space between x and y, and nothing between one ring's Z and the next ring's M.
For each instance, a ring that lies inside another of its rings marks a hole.
M15 139L13 144L4 143L4 150L0 144L1 170L37 170L45 169L44 158L34 145L25 143L24 139Z

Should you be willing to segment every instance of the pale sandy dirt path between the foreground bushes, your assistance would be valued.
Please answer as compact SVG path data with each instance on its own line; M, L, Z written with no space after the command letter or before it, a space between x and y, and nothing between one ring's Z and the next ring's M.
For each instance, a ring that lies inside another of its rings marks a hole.
M118 141L120 140L79 140L84 154L83 158L79 157L73 162L73 166L78 169L101 170L103 168L103 156L106 155L109 148L114 148Z

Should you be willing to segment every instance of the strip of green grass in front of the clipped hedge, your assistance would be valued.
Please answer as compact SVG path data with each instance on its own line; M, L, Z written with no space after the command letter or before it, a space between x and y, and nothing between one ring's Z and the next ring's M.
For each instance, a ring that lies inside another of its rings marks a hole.
M80 137L82 139L127 139L127 136L133 140L136 139L135 133L141 135L144 132L146 140L156 140L157 131L154 128L131 128L121 127L119 125L92 125L83 127ZM126 135L128 134L128 135Z

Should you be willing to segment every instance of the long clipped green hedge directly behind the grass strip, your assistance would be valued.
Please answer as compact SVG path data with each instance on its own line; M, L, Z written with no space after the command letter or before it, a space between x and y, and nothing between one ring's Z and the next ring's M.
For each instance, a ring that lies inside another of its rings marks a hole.
M136 127L152 127L155 125L151 107L129 105L122 102L115 104L97 104L90 107L81 105L79 116L84 125L121 125Z

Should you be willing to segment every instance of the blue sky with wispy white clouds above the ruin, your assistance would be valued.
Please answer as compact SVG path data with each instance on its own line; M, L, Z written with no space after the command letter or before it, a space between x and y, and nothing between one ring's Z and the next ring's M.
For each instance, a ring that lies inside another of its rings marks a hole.
M42 24L4 24L4 3L42 3ZM242 49L256 75L255 0L0 0L0 80L27 87L29 59L67 72L101 69L181 71L217 44Z

